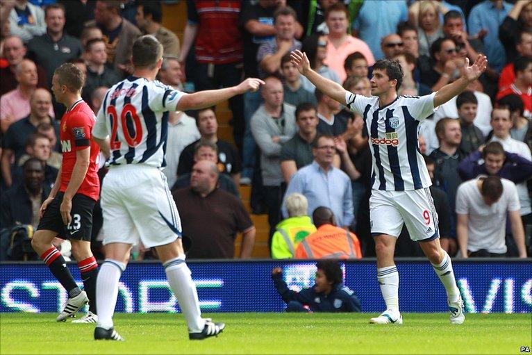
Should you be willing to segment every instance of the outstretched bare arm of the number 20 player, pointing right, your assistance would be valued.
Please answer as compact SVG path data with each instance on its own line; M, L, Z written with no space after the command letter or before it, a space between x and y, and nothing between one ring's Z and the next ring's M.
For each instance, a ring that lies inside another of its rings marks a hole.
M244 94L247 91L256 91L264 81L256 78L248 78L242 83L218 90L205 90L194 92L194 94L185 94L179 100L177 110L194 110L214 106L219 102L231 99L231 97Z

